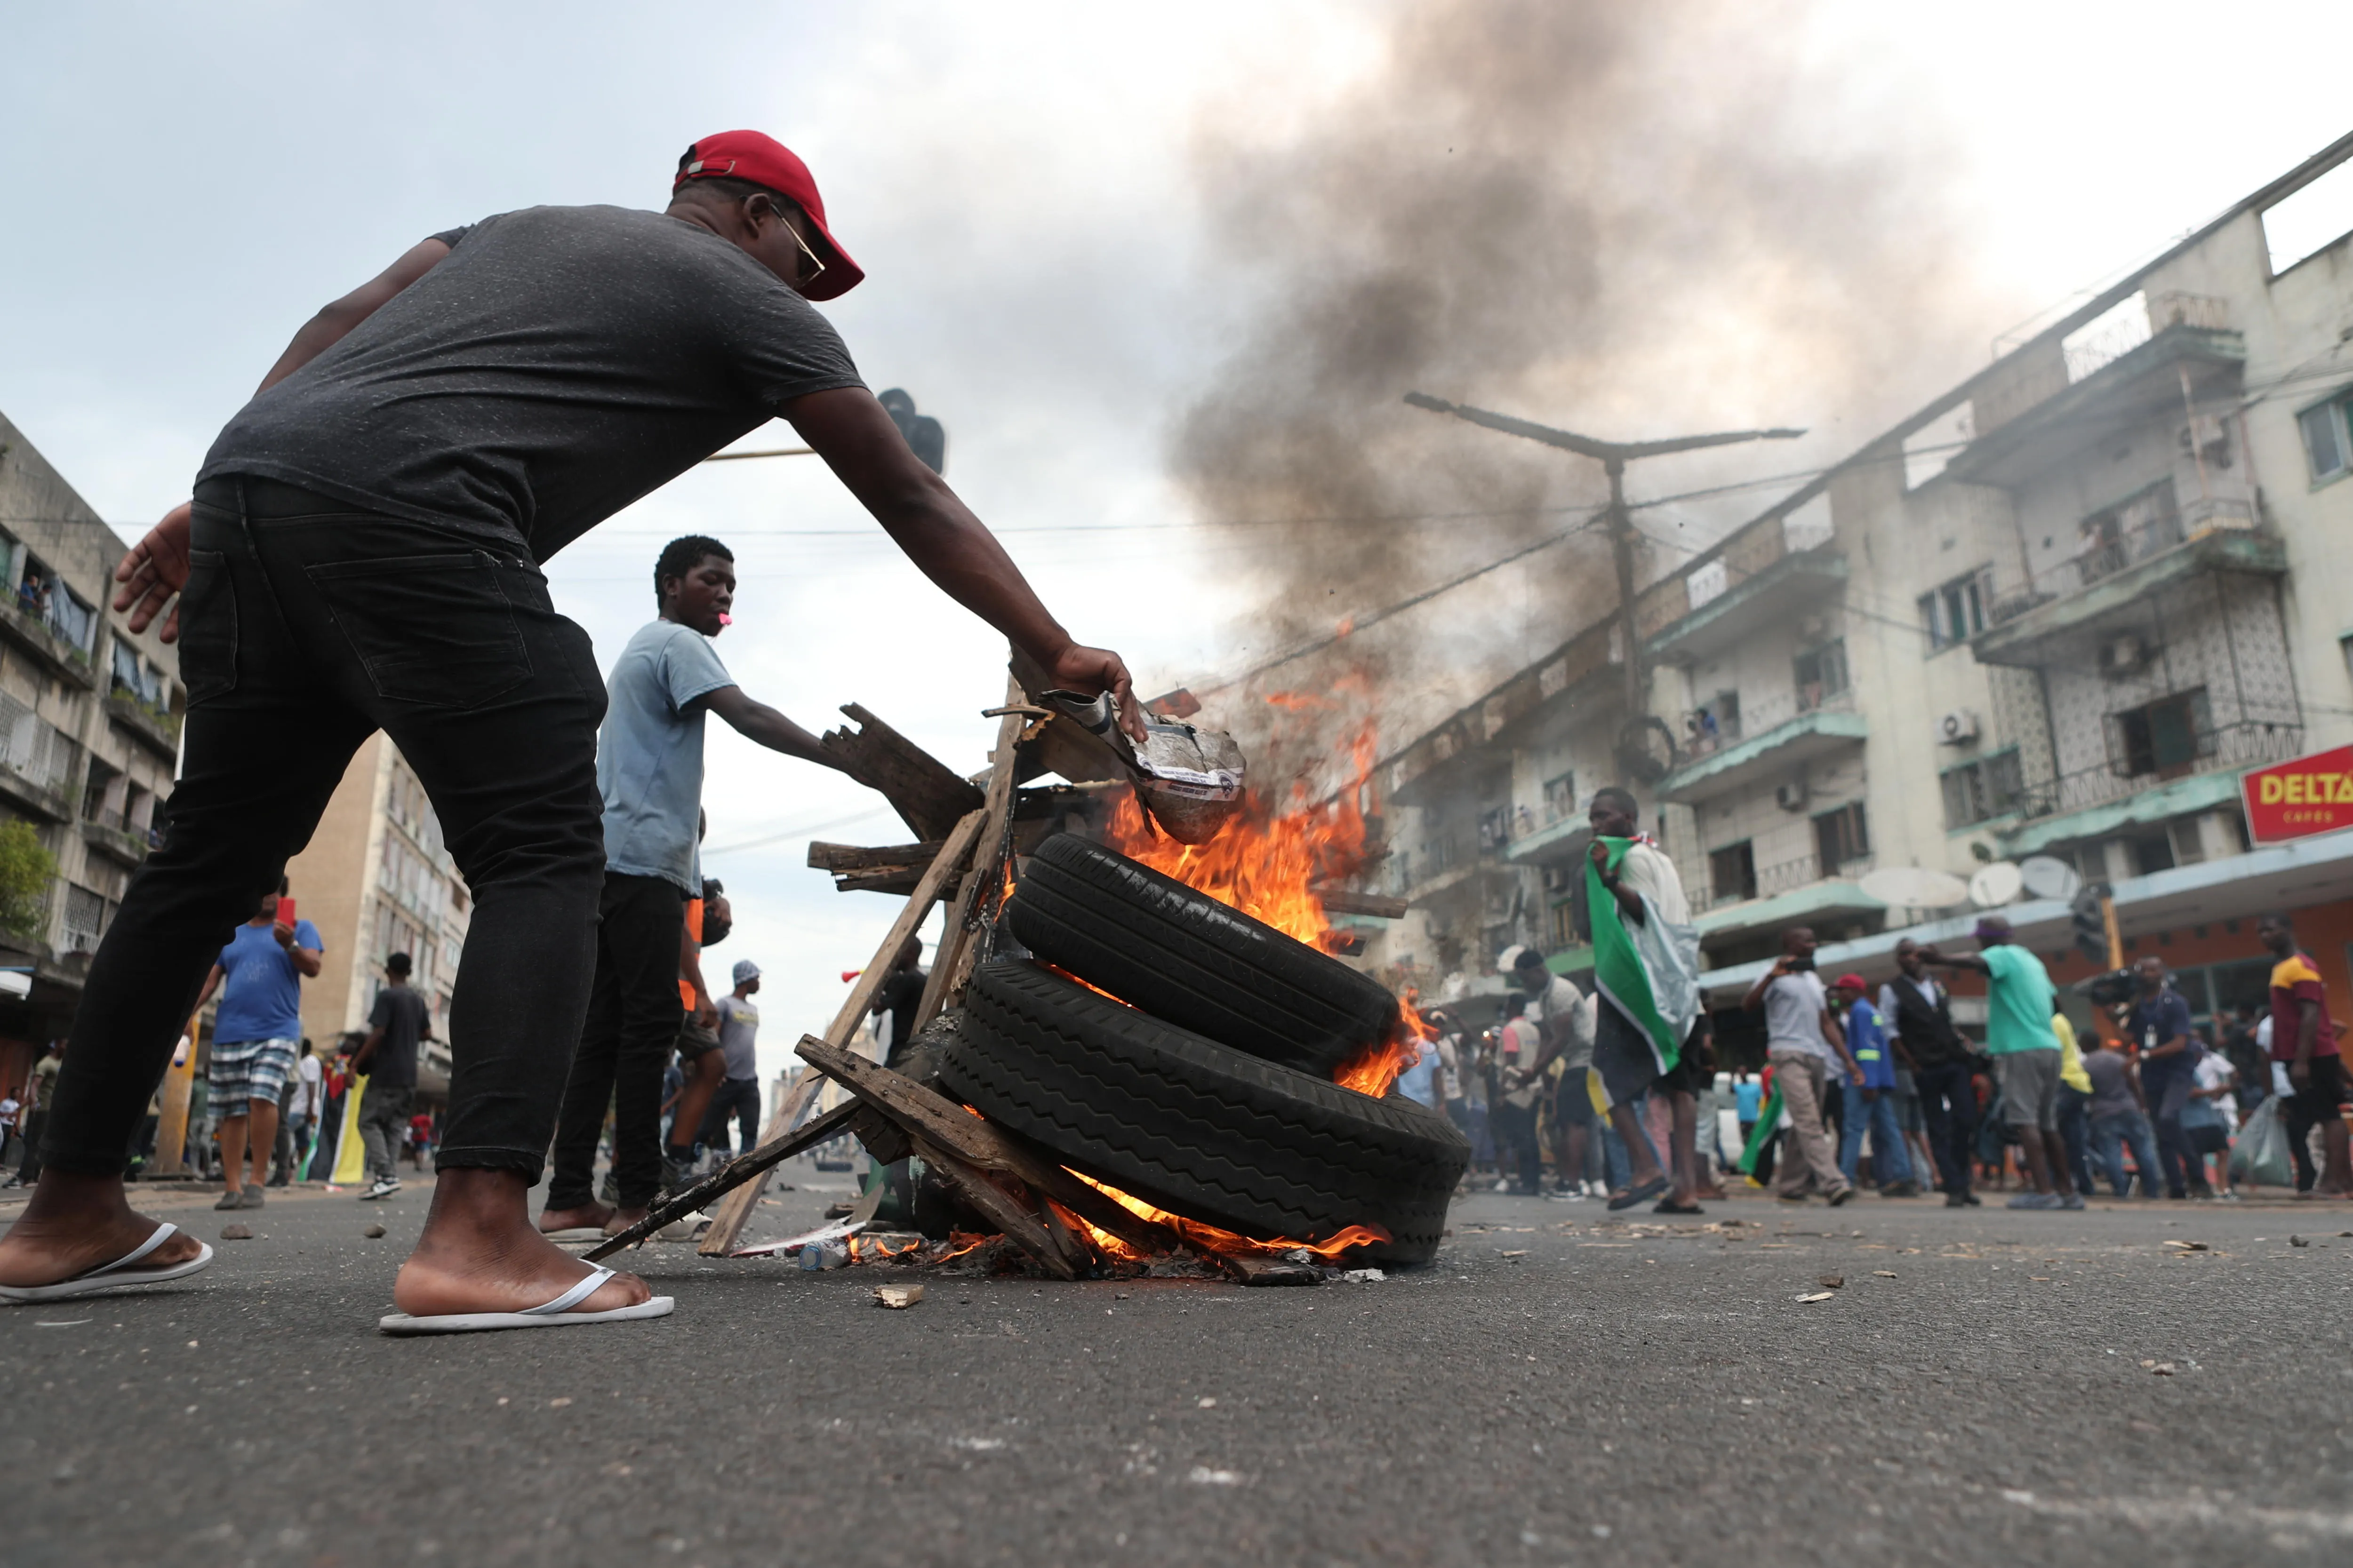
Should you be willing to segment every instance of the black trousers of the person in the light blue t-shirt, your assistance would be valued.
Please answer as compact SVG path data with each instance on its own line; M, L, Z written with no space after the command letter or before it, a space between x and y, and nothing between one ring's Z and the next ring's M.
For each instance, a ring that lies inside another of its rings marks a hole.
M687 933L687 891L661 877L605 872L595 933L595 990L555 1124L548 1208L581 1208L595 1197L595 1145L612 1105L612 1185L621 1208L645 1208L661 1192L661 1070L671 1065L687 1006L678 997L678 945Z

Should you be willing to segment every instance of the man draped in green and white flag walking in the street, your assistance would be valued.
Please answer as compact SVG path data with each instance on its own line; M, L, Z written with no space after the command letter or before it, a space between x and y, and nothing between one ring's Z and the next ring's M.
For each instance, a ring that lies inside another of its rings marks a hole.
M1609 1100L1609 1126L1626 1140L1631 1180L1609 1199L1633 1208L1666 1194L1657 1213L1699 1213L1699 1086L1708 1077L1706 1016L1699 1011L1699 933L1682 877L1659 844L1635 830L1635 799L1617 785L1593 792L1586 820L1586 905L1593 914L1593 1070ZM1673 1175L1659 1171L1635 1117L1645 1093L1668 1095Z

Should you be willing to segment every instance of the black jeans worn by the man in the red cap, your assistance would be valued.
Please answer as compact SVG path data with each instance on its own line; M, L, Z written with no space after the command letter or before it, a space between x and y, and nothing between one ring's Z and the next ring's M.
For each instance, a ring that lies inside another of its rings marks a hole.
M473 889L438 1166L536 1182L588 1006L605 875L588 635L546 578L466 534L259 480L195 491L188 684L162 846L99 943L42 1159L113 1175L195 992L376 729ZM296 889L296 896L301 889Z

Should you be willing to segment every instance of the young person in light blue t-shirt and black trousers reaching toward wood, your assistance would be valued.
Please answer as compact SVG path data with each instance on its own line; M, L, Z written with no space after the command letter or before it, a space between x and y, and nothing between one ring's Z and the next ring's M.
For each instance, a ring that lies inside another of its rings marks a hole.
M595 990L572 1058L555 1124L555 1168L539 1229L607 1234L645 1218L666 1185L661 1074L671 1051L689 1053L687 1091L673 1126L692 1143L725 1067L708 1030L715 1011L699 997L694 1032L682 1034L680 959L687 900L701 898L694 853L704 804L704 715L715 712L760 745L838 766L816 736L744 696L711 639L734 604L734 555L715 538L673 538L654 562L649 621L605 679L605 726L595 776L605 795L605 898L598 919ZM704 1060L708 1058L708 1060ZM612 1166L621 1199L595 1199L595 1145L605 1105L614 1112Z

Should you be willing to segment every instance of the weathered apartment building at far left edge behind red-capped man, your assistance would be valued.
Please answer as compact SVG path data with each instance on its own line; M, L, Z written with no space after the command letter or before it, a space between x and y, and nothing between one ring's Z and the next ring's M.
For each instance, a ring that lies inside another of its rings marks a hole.
M0 931L0 1088L73 1023L82 978L172 795L179 654L106 609L122 541L0 416L0 820L33 825L56 879L28 929Z

